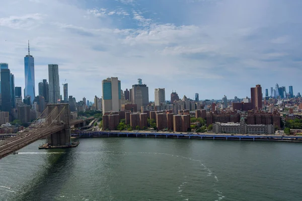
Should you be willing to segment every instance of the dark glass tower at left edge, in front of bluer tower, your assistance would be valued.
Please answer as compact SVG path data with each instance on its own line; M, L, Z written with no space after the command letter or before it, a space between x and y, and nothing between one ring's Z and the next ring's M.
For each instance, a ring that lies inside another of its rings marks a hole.
M3 112L11 112L11 71L10 69L1 69L1 103Z

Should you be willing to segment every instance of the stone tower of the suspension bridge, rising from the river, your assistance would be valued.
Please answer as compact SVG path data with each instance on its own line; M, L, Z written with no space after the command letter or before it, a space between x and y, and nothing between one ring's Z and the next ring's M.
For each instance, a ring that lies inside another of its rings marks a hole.
M64 128L48 136L49 146L71 145L70 138L70 110L69 104L48 104L48 125L64 125Z

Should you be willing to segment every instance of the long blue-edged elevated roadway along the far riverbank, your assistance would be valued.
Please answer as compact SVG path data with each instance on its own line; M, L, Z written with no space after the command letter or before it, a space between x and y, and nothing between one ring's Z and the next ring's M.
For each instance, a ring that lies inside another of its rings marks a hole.
M201 140L250 140L250 141L283 141L302 142L302 136L280 135L240 135L240 134L189 134L169 132L123 132L123 131L72 131L73 137L136 137L136 138L180 138Z

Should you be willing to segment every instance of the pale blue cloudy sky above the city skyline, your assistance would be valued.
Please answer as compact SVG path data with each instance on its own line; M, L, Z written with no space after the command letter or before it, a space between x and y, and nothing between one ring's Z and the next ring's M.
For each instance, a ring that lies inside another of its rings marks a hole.
M30 40L35 85L59 65L68 95L93 102L118 77L180 97L250 96L250 87L302 92L300 0L10 0L1 3L0 62L24 88ZM62 85L61 94L62 94ZM269 90L270 91L270 90Z

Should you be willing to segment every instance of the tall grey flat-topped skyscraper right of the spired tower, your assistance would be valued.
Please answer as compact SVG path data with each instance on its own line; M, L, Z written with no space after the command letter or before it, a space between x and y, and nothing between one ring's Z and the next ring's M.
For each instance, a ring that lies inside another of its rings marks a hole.
M49 81L49 102L56 104L60 99L59 66L57 64L48 64Z

